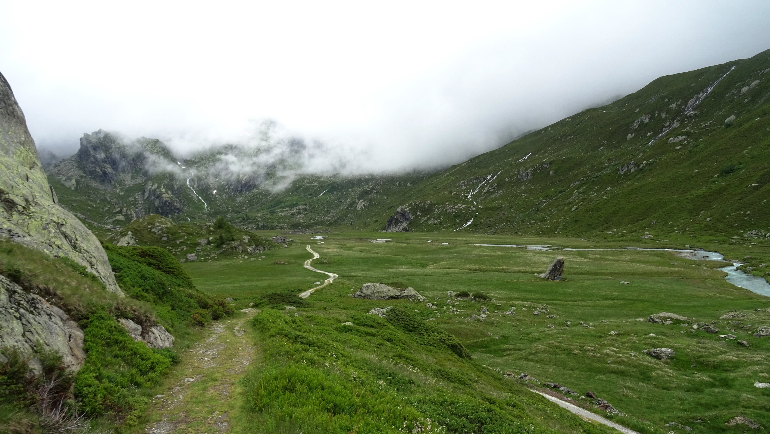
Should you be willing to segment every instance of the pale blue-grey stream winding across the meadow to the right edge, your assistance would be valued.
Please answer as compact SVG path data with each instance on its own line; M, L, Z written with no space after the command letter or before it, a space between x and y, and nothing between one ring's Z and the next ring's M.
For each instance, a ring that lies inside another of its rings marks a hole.
M625 251L625 250L640 250L640 251L675 251L678 252L678 257L684 257L686 259L693 259L695 261L725 261L725 255L717 251L703 251L703 250L686 250L686 249L645 249L643 247L624 247L618 249L570 249L570 248L558 248L543 245L522 245L522 244L474 244L476 246L487 247L524 247L527 250L547 251L547 250L565 250L565 251ZM551 249L547 248L551 247ZM737 287L748 289L755 294L765 295L770 297L770 284L765 278L760 278L753 274L744 273L738 270L740 262L733 262L729 267L718 268L719 271L725 271L725 281L734 284Z

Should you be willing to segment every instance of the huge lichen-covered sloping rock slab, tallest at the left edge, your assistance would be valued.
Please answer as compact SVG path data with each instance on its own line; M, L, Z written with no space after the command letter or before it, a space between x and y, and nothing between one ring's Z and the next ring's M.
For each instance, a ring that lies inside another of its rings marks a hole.
M85 266L122 294L99 240L59 206L22 109L0 75L0 237Z

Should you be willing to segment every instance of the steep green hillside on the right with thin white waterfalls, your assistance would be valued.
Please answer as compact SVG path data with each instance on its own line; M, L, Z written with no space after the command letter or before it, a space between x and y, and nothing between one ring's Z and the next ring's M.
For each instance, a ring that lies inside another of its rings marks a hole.
M417 183L397 205L417 231L765 239L768 96L770 51L661 77Z

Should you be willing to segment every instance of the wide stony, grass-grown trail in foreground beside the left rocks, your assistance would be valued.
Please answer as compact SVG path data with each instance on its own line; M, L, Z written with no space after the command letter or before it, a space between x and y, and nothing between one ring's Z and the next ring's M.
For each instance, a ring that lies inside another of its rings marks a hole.
M230 430L230 415L236 409L236 381L251 364L253 340L244 329L257 310L245 317L214 321L166 382L166 392L156 395L148 411L147 434L203 432L222 434Z

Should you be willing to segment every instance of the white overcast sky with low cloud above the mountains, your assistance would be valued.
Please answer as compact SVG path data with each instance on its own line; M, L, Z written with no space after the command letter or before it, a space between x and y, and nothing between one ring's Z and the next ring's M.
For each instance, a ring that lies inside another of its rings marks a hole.
M770 49L766 0L0 0L0 16L0 72L38 146L69 155L102 128L189 153L273 119L353 171L459 163Z

